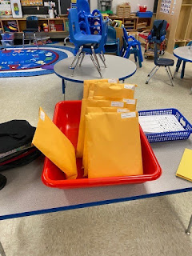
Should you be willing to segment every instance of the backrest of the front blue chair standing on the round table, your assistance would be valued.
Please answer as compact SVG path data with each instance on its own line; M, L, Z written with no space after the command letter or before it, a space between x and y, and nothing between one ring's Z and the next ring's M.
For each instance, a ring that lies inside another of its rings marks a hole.
M69 10L69 28L70 28L70 40L76 43L75 34L82 34L78 23L78 10L72 8Z

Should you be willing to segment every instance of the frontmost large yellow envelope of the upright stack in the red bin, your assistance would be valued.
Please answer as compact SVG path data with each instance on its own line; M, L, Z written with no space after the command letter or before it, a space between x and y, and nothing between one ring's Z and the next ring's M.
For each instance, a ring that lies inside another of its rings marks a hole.
M86 147L88 178L143 174L136 113L87 114Z

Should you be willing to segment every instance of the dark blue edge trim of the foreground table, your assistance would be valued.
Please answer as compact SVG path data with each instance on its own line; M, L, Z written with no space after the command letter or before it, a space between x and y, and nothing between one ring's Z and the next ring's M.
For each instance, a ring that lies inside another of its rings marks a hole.
M181 190L170 190L166 192L158 192L154 194L142 194L142 195L138 195L130 198L116 198L116 199L110 199L110 200L104 200L104 201L98 201L98 202L87 202L87 203L82 203L82 204L73 205L73 206L62 206L57 208L45 209L45 210L34 210L34 211L23 212L19 214L8 214L8 215L0 216L0 220L6 220L10 218L21 218L21 217L38 215L38 214L50 214L50 213L59 212L63 210L74 210L74 209L81 209L86 207L102 206L102 205L108 205L116 202L128 202L128 201L134 201L138 199L155 198L163 195L179 194L179 193L185 193L190 191L192 191L192 187L181 189Z

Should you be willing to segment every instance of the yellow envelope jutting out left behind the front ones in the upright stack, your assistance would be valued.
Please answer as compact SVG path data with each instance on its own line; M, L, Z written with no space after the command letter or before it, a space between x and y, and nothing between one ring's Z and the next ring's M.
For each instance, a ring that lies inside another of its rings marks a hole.
M81 118L78 129L78 145L77 145L77 158L82 158L83 147L84 147L84 135L85 135L85 114L86 107L88 106L118 106L118 107L126 107L130 109L130 105L127 105L126 102L110 102L105 100L94 100L94 99L82 99L82 110L81 110ZM131 105L133 106L133 105ZM135 110L135 106L133 107ZM133 111L134 111L133 110Z

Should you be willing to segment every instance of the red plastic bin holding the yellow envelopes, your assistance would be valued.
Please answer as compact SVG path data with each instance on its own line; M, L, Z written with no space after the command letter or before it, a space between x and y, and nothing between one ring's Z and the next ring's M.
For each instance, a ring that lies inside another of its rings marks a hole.
M62 130L63 134L66 134L66 137L70 139L70 142L73 143L75 148L78 142L78 126L80 122L81 106L81 101L58 102L54 110L54 123L60 130ZM82 158L78 158L78 178L74 180L66 180L62 170L46 158L42 170L42 182L46 186L59 189L74 189L153 181L161 176L162 169L141 128L140 134L142 143L143 175L110 178L83 178Z

